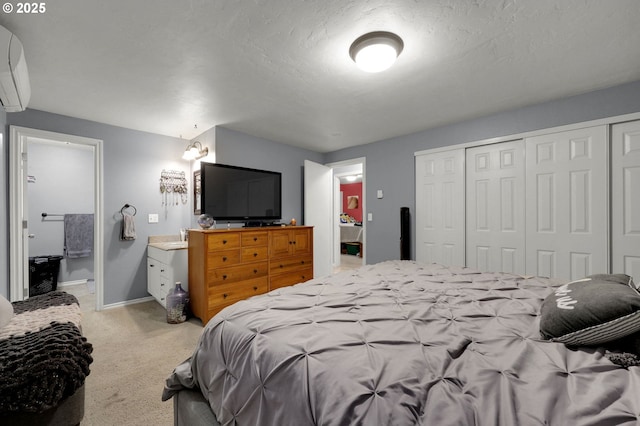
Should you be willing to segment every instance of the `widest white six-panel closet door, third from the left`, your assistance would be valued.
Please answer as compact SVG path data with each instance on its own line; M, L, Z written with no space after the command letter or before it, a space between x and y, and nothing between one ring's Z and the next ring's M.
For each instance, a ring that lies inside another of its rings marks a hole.
M607 128L526 139L527 274L606 273Z

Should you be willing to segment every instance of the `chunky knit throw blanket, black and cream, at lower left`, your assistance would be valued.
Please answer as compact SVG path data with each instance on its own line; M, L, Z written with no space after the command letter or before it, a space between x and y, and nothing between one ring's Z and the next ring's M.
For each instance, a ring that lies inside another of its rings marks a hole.
M40 413L73 395L89 375L93 347L80 331L78 300L54 291L13 302L0 329L0 415Z

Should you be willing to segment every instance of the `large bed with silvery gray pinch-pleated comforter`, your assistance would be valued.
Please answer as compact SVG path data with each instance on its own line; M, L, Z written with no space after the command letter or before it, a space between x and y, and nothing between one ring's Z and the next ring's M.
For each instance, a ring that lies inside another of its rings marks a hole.
M572 295L546 278L367 265L224 309L162 397L180 425L635 425L637 356L541 335L545 304Z

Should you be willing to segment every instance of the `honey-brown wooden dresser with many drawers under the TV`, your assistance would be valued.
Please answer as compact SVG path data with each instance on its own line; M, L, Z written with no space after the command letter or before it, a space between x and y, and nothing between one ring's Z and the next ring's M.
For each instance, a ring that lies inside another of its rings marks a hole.
M189 231L189 297L206 324L239 300L313 278L313 228Z

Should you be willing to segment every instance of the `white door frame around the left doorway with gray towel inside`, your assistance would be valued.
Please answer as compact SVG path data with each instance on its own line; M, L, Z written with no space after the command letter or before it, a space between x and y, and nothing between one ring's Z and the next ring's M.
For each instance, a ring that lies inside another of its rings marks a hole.
M9 141L9 296L24 300L28 294L27 146L29 138L48 139L93 147L94 170L94 280L96 310L104 306L103 141L27 127L10 126ZM25 290L27 290L25 292Z

